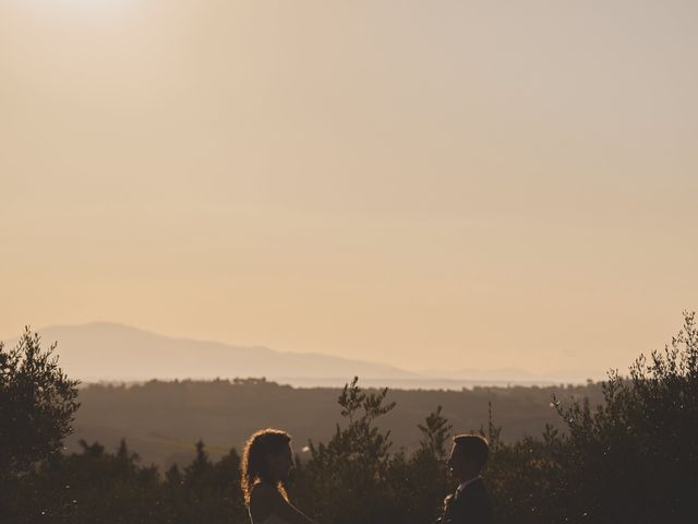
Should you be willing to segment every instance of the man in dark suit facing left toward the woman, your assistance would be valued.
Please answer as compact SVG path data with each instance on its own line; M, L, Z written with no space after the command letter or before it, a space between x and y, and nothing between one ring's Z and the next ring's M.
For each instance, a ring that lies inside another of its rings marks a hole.
M444 513L438 524L492 524L493 509L480 472L488 462L490 445L479 434L457 434L446 463L460 483L444 500Z

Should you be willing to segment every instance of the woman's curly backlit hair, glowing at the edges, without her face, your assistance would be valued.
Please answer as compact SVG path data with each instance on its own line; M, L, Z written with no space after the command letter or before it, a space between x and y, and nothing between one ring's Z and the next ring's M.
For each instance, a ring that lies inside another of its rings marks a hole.
M276 484L276 489L281 493L281 497L288 500L284 484L269 477L265 457L278 455L290 442L291 436L279 429L261 429L250 436L244 444L242 464L240 466L240 486L242 487L245 505L250 505L254 486L262 481Z

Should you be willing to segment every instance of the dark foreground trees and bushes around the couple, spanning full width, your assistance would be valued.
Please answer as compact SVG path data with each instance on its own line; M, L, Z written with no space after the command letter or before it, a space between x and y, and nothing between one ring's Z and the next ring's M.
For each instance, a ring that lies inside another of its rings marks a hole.
M232 449L203 442L188 465L142 465L125 442L82 442L61 453L76 384L31 333L0 348L0 522L240 523L248 521ZM502 523L688 523L698 497L698 330L693 313L663 352L612 372L603 402L557 402L562 428L504 441L490 420L484 477ZM324 524L429 524L453 489L443 462L453 425L442 408L419 424L413 451L393 445L381 419L387 390L354 380L337 401L342 421L311 442L289 483L291 500Z

